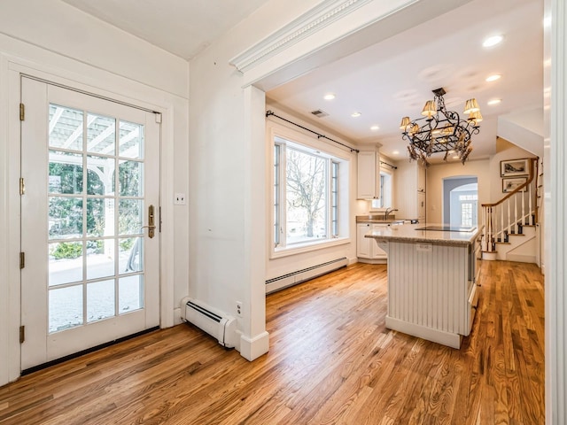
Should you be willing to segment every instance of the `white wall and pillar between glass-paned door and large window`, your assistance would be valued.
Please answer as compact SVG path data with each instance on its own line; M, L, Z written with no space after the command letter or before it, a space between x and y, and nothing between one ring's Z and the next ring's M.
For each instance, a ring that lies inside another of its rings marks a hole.
M266 107L229 61L316 3L270 2L190 62L189 295L235 316L243 302L247 359L268 351Z

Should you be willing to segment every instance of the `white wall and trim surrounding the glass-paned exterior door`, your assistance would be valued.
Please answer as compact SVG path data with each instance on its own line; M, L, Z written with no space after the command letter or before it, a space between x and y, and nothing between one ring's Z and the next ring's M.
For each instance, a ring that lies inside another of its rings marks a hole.
M127 35L57 0L0 4L0 214L19 225L17 105L19 72L162 112L162 326L188 287L188 207L173 206L188 191L189 66L181 58ZM12 140L15 138L15 140ZM4 155L5 153L5 155ZM19 233L0 251L0 384L19 375ZM178 312L177 312L178 313ZM5 325L5 326L4 326Z

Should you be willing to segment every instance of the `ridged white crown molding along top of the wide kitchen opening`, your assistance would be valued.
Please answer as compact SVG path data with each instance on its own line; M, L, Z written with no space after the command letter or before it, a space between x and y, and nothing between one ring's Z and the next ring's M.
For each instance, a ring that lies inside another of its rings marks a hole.
M268 58L276 56L291 45L315 34L338 19L344 18L373 0L326 0L315 8L292 20L289 24L268 35L243 53L232 58L229 64L245 73Z

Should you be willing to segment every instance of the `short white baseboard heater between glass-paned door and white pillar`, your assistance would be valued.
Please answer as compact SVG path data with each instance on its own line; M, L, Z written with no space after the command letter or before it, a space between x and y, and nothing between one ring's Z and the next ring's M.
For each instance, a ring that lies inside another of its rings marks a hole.
M237 320L193 298L183 298L181 317L214 336L225 348L233 348L237 342Z

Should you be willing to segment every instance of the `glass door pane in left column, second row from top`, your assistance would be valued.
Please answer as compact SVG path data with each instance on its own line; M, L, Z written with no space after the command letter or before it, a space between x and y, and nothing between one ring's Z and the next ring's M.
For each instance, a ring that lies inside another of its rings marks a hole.
M82 193L82 155L50 151L50 193Z

